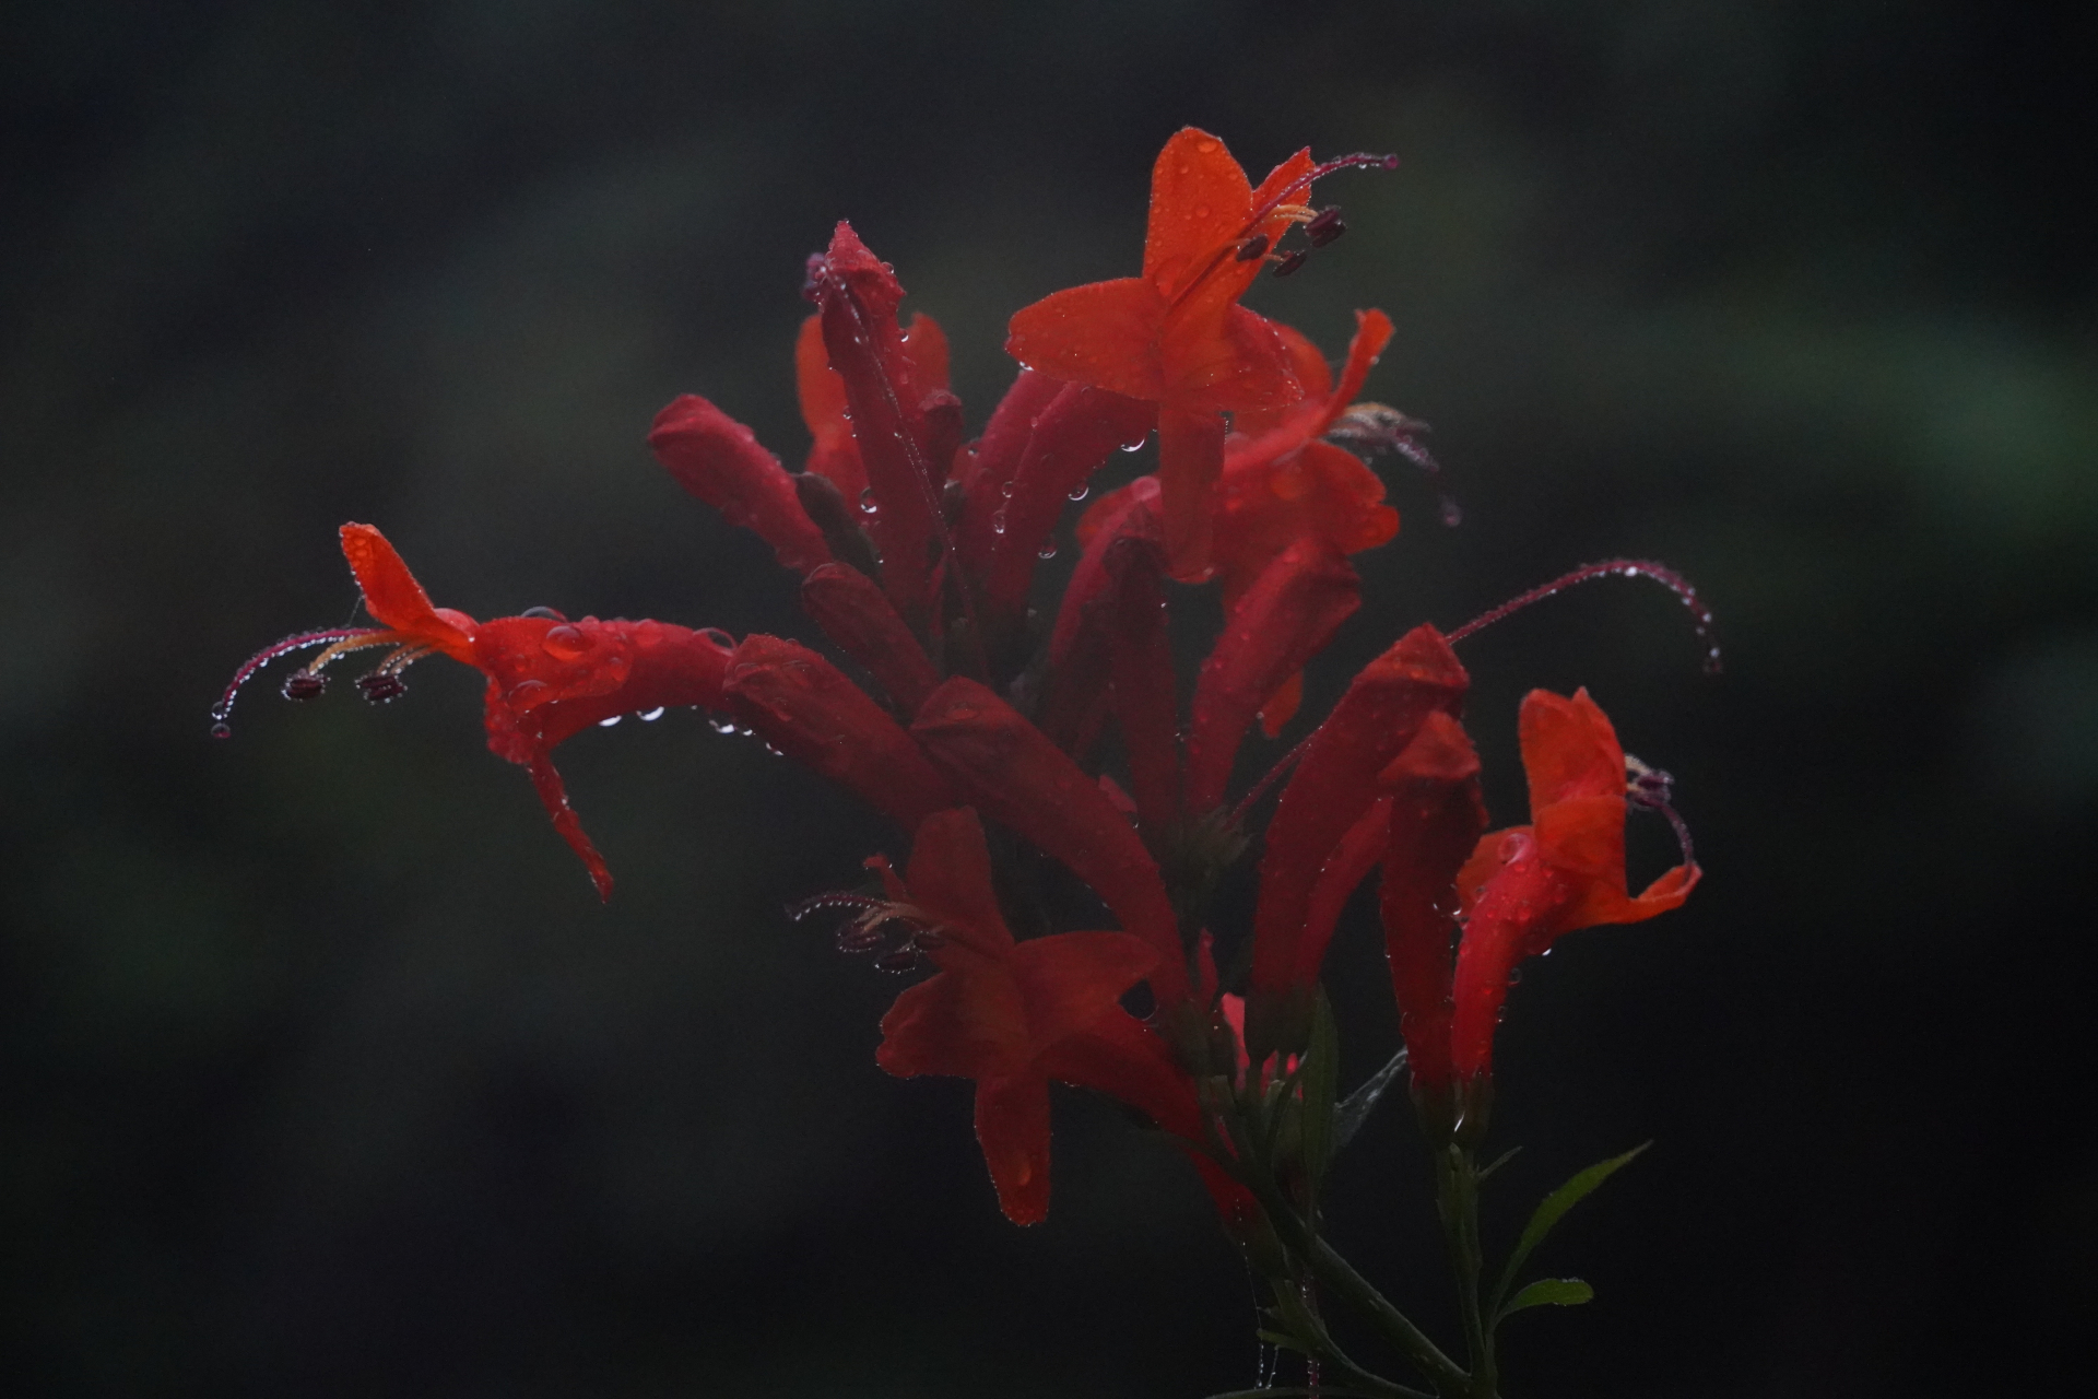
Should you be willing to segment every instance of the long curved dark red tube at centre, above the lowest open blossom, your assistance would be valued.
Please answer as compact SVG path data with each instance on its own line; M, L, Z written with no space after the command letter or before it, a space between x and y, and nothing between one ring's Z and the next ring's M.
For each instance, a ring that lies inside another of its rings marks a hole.
M1158 864L1097 780L965 675L932 692L911 734L969 801L1068 864L1158 950L1150 982L1160 1005L1185 998L1187 956Z

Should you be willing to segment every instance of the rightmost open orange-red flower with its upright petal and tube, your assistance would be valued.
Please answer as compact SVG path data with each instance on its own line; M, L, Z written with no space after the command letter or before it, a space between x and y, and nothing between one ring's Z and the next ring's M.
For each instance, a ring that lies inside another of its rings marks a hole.
M1678 864L1632 898L1624 881L1626 763L1586 690L1532 690L1521 713L1529 826L1479 841L1456 877L1464 940L1452 986L1450 1066L1458 1082L1494 1070L1494 1026L1508 975L1563 933L1639 923L1689 898L1699 868Z

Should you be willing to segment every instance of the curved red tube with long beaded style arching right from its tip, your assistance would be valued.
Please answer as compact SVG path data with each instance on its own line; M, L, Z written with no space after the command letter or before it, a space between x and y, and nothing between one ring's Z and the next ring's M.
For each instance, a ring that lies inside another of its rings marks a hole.
M1305 740L1297 772L1267 822L1261 896L1253 914L1255 990L1297 990L1297 942L1326 856L1383 795L1378 774L1412 742L1427 715L1437 709L1456 713L1469 684L1435 627L1414 627L1355 675Z

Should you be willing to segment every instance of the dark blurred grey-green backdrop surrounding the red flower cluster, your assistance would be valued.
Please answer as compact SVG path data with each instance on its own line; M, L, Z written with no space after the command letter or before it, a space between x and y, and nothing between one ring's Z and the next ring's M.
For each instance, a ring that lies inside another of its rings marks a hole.
M808 636L642 434L701 390L797 461L801 260L839 216L946 325L1133 273L1181 124L1259 176L1391 149L1257 308L1435 424L1311 677L1571 564L1467 644L1588 684L1710 879L1517 988L1496 1240L1655 1147L1540 1265L1515 1395L2033 1393L2094 1321L2094 21L1869 0L1055 6L40 4L0 46L4 1378L23 1395L1202 1395L1250 1296L1187 1166L1057 1120L994 1208L896 982L783 904L900 837L701 715L562 768L592 898L478 677L367 709L241 657L340 623L342 520L438 602ZM1066 550L1068 562L1070 550ZM1647 875L1668 858L1639 833ZM1332 965L1389 1051L1374 919ZM1443 1326L1404 1112L1343 1250Z

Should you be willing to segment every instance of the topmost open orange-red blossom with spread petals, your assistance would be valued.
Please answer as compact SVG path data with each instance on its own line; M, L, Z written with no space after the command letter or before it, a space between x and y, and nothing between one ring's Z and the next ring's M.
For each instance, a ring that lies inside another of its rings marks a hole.
M1152 166L1143 275L1055 292L1011 321L1005 350L1022 365L1158 405L1164 545L1177 579L1211 568L1223 415L1303 399L1278 329L1238 298L1261 271L1259 252L1307 212L1315 170L1299 151L1255 189L1221 141L1183 128Z

